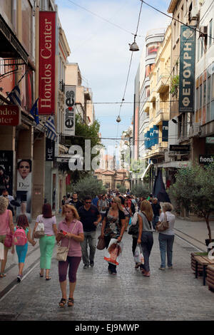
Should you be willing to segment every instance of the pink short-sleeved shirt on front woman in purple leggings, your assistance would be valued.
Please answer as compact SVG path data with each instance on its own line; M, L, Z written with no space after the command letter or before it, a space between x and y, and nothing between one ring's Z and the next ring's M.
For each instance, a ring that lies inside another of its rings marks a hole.
M75 225L76 224L76 225ZM58 231L63 230L63 232L69 232L75 235L78 235L80 233L83 233L83 225L78 220L73 220L70 225L68 226L66 224L66 220L63 220L59 222L58 224ZM70 239L70 247L68 250L68 256L69 257L81 257L81 244L78 241L75 241L75 239ZM67 237L63 237L61 239L61 247L68 247L69 239Z

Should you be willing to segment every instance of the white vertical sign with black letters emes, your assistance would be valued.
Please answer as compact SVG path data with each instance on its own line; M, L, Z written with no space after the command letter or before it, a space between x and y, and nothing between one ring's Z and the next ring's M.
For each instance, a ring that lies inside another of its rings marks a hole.
M76 86L65 86L63 135L75 135Z

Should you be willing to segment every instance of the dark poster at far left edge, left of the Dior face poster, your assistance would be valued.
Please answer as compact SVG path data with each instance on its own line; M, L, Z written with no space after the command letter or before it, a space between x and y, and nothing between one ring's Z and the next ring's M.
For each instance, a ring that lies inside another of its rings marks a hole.
M13 151L0 150L0 195L4 189L13 194L13 162Z

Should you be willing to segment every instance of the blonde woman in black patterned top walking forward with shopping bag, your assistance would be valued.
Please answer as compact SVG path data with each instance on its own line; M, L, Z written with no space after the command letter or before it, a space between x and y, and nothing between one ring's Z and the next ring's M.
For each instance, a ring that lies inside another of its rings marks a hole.
M113 197L111 207L106 210L105 217L103 219L103 225L101 230L101 238L105 239L106 249L112 238L121 242L123 233L126 229L125 214L121 205L121 199L119 197ZM115 275L116 265L108 263L108 272Z

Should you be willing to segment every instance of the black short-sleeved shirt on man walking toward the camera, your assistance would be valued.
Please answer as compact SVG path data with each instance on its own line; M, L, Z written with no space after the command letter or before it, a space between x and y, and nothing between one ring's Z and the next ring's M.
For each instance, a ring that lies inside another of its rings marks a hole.
M98 220L98 215L100 215L97 207L91 205L89 210L86 210L84 206L81 206L78 209L78 215L83 224L84 232L93 232L96 230L96 225L93 225L93 222L96 222L96 220Z

